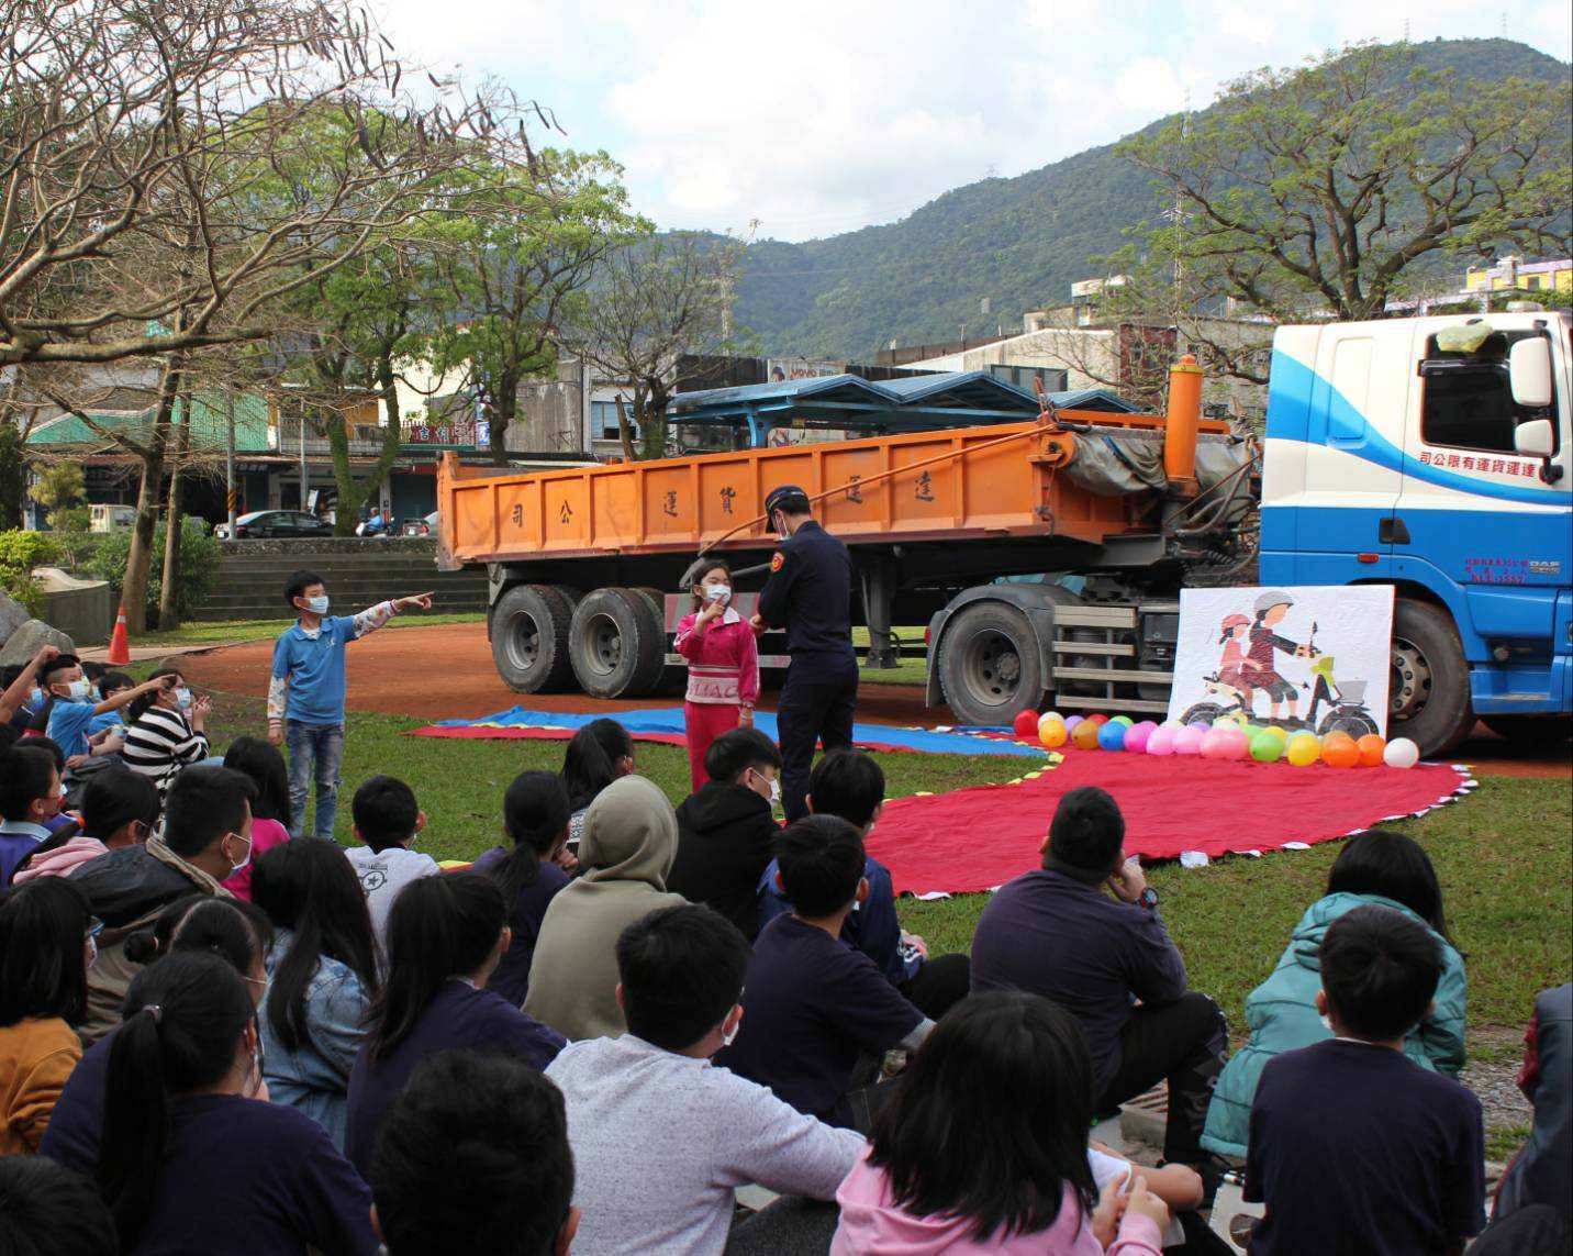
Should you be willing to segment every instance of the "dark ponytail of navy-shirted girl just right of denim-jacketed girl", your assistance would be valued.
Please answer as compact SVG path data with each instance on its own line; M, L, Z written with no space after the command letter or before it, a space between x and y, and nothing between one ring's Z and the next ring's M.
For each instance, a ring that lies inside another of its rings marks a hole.
M367 1017L373 1064L414 1033L448 981L486 963L507 922L502 888L480 872L422 877L400 891L389 913L389 979Z

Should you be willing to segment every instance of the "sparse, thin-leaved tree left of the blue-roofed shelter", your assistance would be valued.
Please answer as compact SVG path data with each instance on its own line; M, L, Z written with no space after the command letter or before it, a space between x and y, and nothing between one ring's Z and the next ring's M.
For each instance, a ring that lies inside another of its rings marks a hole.
M742 244L694 233L634 239L601 268L582 302L568 345L632 397L632 422L647 458L665 453L665 411L680 354L730 348L731 302ZM617 406L623 456L634 439L623 401Z

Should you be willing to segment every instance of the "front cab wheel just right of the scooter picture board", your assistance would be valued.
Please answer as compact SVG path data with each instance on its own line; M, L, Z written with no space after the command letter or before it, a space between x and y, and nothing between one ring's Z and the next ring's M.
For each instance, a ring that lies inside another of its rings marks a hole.
M1392 680L1387 735L1408 737L1425 757L1447 754L1469 735L1469 664L1447 612L1398 598L1392 608Z

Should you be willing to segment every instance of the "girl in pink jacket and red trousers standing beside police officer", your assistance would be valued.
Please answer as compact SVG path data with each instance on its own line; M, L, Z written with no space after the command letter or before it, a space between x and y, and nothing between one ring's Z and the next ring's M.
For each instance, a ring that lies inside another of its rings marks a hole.
M676 650L689 664L683 722L695 792L709 774L709 743L739 726L753 724L760 696L760 655L753 628L731 609L731 568L722 560L697 571L694 612L678 623Z

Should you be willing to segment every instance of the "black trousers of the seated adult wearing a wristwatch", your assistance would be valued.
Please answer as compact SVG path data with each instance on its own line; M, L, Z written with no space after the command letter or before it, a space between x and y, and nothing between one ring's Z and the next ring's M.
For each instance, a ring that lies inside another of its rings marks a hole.
M1109 1078L1098 1110L1111 1111L1167 1078L1164 1160L1206 1163L1202 1127L1227 1055L1224 1014L1206 995L1189 990L1173 1003L1133 1007L1120 1029L1120 1067Z

